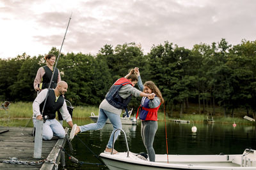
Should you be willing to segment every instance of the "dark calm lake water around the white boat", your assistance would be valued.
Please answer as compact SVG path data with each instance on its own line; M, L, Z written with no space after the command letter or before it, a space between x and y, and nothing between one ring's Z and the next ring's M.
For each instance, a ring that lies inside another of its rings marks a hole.
M76 120L74 120L76 122ZM78 125L90 123L90 120L77 120ZM167 138L169 154L240 154L246 148L256 148L255 126L232 124L195 124L197 132L191 132L193 124L180 124L167 122ZM141 140L141 124L123 125L127 136L129 150L131 152L147 152ZM100 163L92 152L99 155L104 151L113 131L111 124L106 124L99 131L87 131L78 134L72 141L74 156L83 162ZM83 143L79 140L81 139ZM88 148L86 148L86 146ZM68 150L68 146L66 146ZM115 149L118 152L125 152L124 134L118 137L115 143ZM164 122L158 122L158 129L154 140L154 149L156 153L166 154L166 138ZM77 165L66 158L67 169L108 169L104 166L96 165Z

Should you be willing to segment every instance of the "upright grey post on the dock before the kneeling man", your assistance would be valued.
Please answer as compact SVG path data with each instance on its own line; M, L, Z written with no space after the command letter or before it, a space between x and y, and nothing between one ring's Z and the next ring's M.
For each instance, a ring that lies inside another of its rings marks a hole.
M34 158L42 157L42 135L43 135L43 120L36 120L36 134L34 143Z

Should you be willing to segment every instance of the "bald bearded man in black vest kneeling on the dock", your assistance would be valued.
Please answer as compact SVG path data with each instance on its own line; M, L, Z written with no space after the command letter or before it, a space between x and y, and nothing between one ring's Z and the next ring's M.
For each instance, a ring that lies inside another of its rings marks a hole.
M44 108L44 115L41 115L45 98L48 89L42 90L40 94L36 97L33 102L33 124L35 126L36 119L42 120L45 118L45 123L43 126L43 139L51 140L52 136L57 136L58 138L65 138L65 131L56 120L56 111L60 110L63 120L66 120L70 127L73 127L73 122L70 114L67 110L67 104L63 95L67 92L68 84L65 81L59 81L56 89L50 89L47 97L47 101Z

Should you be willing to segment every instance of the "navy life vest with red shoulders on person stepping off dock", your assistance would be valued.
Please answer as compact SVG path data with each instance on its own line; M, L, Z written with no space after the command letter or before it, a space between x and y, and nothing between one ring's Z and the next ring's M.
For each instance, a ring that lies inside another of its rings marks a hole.
M123 77L118 79L109 89L108 93L105 96L105 99L108 101L109 104L111 104L115 108L125 110L127 117L129 117L127 106L131 101L132 96L130 95L129 97L124 99L119 95L120 88L127 84L132 85L131 81L127 78Z

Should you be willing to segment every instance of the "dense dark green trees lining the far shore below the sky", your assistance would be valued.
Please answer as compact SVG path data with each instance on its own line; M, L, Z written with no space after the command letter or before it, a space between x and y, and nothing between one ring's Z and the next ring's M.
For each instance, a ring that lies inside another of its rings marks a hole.
M52 47L49 53L58 56L59 50ZM33 101L40 66L45 66L43 55L0 59L0 101ZM136 43L104 45L97 55L61 53L57 67L68 83L65 98L74 105L98 106L118 78L139 67L143 82L154 81L161 90L168 115L173 110L182 115L189 103L196 103L198 113L208 107L214 115L220 106L226 117L237 108L256 116L256 41L230 45L221 39L191 50L165 41L146 55ZM140 99L132 98L129 106L138 108Z

